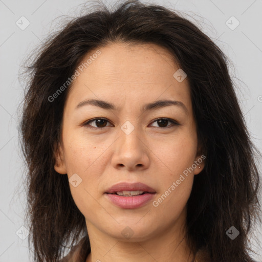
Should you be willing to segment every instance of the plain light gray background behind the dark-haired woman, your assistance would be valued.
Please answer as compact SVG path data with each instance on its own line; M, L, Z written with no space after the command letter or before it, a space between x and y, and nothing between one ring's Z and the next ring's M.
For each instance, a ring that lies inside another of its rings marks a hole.
M23 191L25 166L18 150L17 132L17 106L23 98L23 82L17 78L19 67L33 48L51 31L59 28L59 18L54 19L62 14L72 17L80 14L79 5L82 3L86 2L0 0L0 262L32 261L28 252L27 230L23 228L26 226L23 219L26 195ZM114 3L110 1L111 5ZM150 3L187 14L187 18L210 36L230 58L230 73L237 85L236 91L252 140L262 151L262 1L159 0ZM230 18L232 16L235 18ZM24 29L27 20L30 25ZM261 245L262 242L261 231L261 227L257 227L250 236L251 245L258 252L254 256L257 261L262 261L262 251L258 247L258 243ZM254 235L258 237L257 241Z

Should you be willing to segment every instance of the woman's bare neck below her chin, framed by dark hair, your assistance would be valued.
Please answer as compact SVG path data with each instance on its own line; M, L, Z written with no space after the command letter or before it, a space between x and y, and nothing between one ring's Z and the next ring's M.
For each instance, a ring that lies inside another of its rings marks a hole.
M186 228L183 222L185 214L171 228L161 230L161 233L153 232L150 237L141 240L115 238L87 222L91 253L86 262L192 262L193 255L185 241Z

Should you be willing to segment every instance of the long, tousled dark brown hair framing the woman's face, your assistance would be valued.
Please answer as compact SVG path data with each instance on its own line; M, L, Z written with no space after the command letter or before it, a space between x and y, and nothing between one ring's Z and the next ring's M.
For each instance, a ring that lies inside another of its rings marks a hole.
M154 43L168 50L187 74L198 142L206 156L187 203L186 241L194 255L204 247L213 262L253 261L248 233L259 218L256 158L261 155L251 142L228 58L178 12L137 1L120 3L113 10L100 5L71 19L41 45L27 67L20 137L28 167L26 216L34 260L58 261L65 246L72 248L81 234L83 257L90 252L85 218L74 203L68 177L54 170L71 85L55 102L49 98L74 74L86 53L114 42ZM239 231L233 241L226 235L231 226Z

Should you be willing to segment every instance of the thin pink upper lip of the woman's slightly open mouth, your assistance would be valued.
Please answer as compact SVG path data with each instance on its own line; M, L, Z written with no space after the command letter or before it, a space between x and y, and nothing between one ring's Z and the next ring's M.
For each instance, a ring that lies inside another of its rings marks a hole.
M151 187L143 184L143 183L128 183L122 182L113 185L112 187L108 188L105 193L116 193L118 191L144 191L148 193L156 193L156 190L152 189Z

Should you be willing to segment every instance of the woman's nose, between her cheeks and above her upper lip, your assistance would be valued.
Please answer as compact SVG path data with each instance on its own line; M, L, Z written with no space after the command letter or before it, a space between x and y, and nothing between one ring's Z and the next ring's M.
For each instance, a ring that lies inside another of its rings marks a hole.
M149 152L150 149L139 128L134 128L130 133L121 129L119 138L114 143L112 164L116 169L144 170L149 166Z

